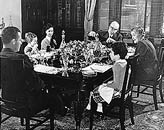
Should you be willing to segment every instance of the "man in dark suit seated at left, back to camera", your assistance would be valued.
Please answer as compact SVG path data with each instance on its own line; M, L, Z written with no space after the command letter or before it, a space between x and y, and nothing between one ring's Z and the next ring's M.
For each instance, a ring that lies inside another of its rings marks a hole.
M34 71L33 65L30 62L28 56L25 54L17 53L21 45L20 30L16 27L4 28L4 30L2 31L2 42L3 42L3 49L0 52L1 58L5 57L6 59L24 60L23 69L24 69L25 85L22 86L24 88L22 88L21 90L15 86L14 91L18 92L18 95L16 96L19 97L24 95L23 98L26 99L25 101L27 101L29 105L29 109L32 112L38 112L40 110L43 110L43 108L47 108L50 105L50 103L53 104L54 107L56 106L55 104L58 104L58 106L60 106L58 95L55 93L55 91L53 97L49 97L44 82L39 78L37 73ZM13 88L11 88L11 90L13 90ZM3 87L2 87L2 97L3 97ZM20 97L20 99L21 98L22 97Z

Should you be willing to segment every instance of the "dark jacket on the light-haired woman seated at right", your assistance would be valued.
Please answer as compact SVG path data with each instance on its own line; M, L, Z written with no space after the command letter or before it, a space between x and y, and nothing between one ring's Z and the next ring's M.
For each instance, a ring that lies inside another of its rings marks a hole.
M135 54L139 54L136 65L136 83L153 80L158 72L158 59L154 45L149 40L139 41Z

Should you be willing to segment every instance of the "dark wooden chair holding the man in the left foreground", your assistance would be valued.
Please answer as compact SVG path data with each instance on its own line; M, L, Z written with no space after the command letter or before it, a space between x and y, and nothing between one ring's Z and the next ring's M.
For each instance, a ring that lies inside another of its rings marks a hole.
M54 114L51 108L42 108L37 111L32 111L29 109L29 105L25 97L26 90L22 89L24 88L22 86L25 85L23 67L23 60L11 60L1 57L1 123L10 117L18 117L21 119L21 125L25 125L26 130L33 130L50 119L50 129L53 130ZM20 91L16 91L18 89L15 88L19 88ZM41 111L46 109L49 110L47 115L39 114ZM2 114L7 115L7 117L5 116L4 118ZM40 118L40 115L44 115L44 117ZM34 120L36 123L30 125L30 120Z

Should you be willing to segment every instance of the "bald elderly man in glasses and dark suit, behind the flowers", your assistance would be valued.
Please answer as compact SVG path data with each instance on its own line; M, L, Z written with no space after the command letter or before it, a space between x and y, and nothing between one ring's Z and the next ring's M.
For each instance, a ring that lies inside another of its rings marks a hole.
M115 41L122 41L123 37L122 35L118 32L119 30L119 23L116 21L113 21L109 28L108 31L99 31L98 32L98 37L99 40L102 44L106 45L106 46L110 46L112 43L114 43ZM96 32L91 31L88 36L92 36L92 37L96 37Z

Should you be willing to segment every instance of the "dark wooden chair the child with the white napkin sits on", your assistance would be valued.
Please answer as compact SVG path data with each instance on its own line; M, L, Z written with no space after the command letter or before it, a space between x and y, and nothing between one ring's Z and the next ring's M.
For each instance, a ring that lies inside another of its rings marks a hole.
M127 67L124 77L124 83L121 91L121 96L114 97L110 104L103 103L103 114L106 116L110 116L113 118L119 118L120 124L121 124L121 130L125 129L124 121L125 121L125 109L127 108L130 112L130 118L132 124L134 124L133 119L133 103L132 103L132 88L134 83L134 77L135 77L135 64L137 61L138 55L134 57L130 57L127 60ZM95 102L93 98L91 98L91 111L90 111L90 130L92 130L93 127L93 106L95 105ZM118 111L115 108L118 108Z

